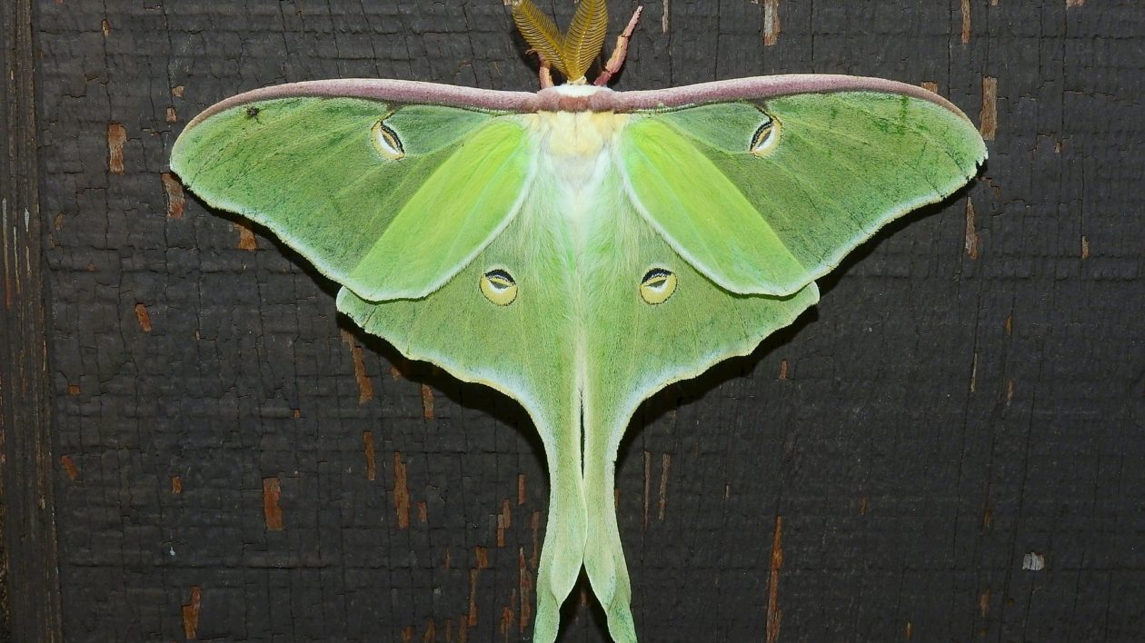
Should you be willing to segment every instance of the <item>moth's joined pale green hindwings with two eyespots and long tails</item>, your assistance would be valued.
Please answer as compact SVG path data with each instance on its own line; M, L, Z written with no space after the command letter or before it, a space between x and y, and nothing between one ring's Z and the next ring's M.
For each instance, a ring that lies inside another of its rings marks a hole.
M542 175L535 198L441 291L370 302L344 288L338 307L403 354L520 400L532 418L551 481L535 641L555 638L582 564L614 638L635 641L613 495L629 419L652 392L750 352L819 294L814 284L788 297L724 291L647 225L618 174L586 196L587 221L564 216L560 190ZM512 294L491 295L491 277Z

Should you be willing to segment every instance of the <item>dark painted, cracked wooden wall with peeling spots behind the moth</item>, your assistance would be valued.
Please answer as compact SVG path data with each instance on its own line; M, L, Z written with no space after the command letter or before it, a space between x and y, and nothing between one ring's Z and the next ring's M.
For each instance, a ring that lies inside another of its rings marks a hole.
M0 13L16 638L528 637L547 483L523 412L364 335L167 174L188 119L264 85L535 88L506 7ZM1136 0L647 2L617 89L930 84L990 159L638 413L617 487L645 641L1145 638L1143 71ZM564 640L607 640L584 588Z

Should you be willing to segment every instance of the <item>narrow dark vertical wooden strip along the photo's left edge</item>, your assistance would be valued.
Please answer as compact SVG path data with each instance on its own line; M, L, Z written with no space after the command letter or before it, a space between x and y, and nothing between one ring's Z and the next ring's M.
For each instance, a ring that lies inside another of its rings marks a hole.
M79 470L53 448L33 5L0 7L0 640L56 642L63 637L53 485L65 470L69 481Z

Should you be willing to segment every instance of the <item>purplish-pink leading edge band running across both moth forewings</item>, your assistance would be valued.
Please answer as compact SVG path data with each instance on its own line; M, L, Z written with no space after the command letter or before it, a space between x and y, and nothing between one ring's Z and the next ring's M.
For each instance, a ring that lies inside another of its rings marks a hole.
M595 88L592 94L569 96L560 87L550 87L537 93L500 92L477 89L417 80L387 80L372 78L347 78L309 80L262 87L244 92L211 105L195 117L187 127L229 108L271 98L299 96L352 97L395 103L428 103L457 108L475 108L491 111L539 112L539 111L599 111L635 112L718 103L739 100L766 100L791 94L827 94L831 92L879 92L901 94L930 101L966 118L953 103L934 94L906 82L868 78L861 76L791 73L737 78L716 82L701 82L669 89L639 92L614 92ZM969 118L966 120L970 120Z

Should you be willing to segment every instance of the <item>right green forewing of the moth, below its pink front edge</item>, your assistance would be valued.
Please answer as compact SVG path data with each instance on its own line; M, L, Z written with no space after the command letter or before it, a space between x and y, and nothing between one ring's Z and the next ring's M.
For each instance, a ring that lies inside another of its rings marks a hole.
M649 223L716 283L760 294L826 275L889 221L964 185L985 153L961 113L863 90L653 112L622 148Z

